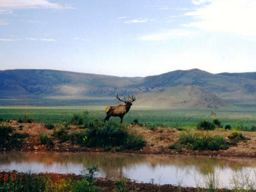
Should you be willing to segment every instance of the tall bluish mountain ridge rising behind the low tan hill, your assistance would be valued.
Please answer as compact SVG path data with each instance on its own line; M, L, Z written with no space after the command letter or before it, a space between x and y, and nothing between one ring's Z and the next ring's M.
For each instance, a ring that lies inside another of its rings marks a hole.
M151 92L165 87L192 85L205 88L223 99L246 100L248 95L250 99L256 99L256 80L212 74L198 69L177 70L158 76L148 76L136 84L121 87L120 90Z

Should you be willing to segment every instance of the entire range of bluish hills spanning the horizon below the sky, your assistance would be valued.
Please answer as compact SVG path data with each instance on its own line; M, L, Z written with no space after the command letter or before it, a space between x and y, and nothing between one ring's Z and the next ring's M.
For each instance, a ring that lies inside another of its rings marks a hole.
M140 106L219 108L228 106L227 103L256 102L255 77L256 73L212 74L198 69L145 78L58 70L4 70L0 71L0 105L105 105L116 93L134 93Z

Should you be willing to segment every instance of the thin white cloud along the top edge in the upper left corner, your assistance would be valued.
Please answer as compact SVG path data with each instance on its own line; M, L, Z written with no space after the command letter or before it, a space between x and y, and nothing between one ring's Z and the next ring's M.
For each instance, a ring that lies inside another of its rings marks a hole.
M0 9L70 9L70 6L50 3L48 0L0 0Z

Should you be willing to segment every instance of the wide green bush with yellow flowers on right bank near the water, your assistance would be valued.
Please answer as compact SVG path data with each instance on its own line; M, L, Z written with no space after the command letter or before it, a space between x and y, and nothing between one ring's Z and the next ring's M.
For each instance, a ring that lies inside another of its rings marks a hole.
M218 151L219 149L227 149L227 142L223 137L220 136L210 136L208 133L201 134L190 134L181 133L180 134L180 144L186 145L192 150L211 150Z

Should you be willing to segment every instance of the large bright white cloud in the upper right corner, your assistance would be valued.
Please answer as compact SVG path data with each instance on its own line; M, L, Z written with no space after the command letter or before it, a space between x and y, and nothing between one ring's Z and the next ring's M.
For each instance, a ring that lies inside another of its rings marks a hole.
M235 33L242 36L256 36L256 0L193 0L202 4L185 16L198 21L183 24L214 32ZM207 3L209 2L209 3Z

